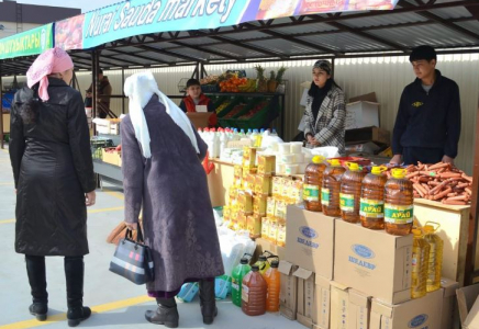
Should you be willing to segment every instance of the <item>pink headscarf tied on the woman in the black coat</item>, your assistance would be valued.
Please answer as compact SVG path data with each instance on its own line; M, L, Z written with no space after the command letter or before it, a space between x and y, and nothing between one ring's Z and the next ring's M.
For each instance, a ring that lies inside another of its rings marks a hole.
M26 82L32 88L40 81L38 97L48 101L48 75L60 73L74 67L70 56L62 48L48 49L38 57L26 72Z

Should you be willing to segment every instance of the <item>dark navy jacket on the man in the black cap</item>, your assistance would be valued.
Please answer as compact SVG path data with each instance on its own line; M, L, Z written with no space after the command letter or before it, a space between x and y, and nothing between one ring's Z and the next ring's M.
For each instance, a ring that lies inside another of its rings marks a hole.
M404 147L438 148L450 158L457 156L460 137L459 87L436 70L436 80L426 92L416 79L404 88L396 120L392 150Z

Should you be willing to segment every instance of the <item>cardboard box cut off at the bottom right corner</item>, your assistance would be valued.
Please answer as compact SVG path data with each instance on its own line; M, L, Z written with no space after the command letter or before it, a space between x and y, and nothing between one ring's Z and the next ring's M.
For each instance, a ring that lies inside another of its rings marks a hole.
M479 325L479 284L456 291L460 324L464 329L478 329Z

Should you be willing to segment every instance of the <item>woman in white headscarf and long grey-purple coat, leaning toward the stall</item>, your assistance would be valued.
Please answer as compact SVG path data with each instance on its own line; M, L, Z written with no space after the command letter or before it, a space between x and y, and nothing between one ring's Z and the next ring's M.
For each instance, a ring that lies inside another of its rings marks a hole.
M130 98L121 124L125 223L136 229L143 207L145 243L155 264L155 281L146 288L158 308L145 317L178 327L175 296L183 283L199 282L203 322L212 324L214 277L224 269L201 164L208 147L151 72L127 78L124 91Z

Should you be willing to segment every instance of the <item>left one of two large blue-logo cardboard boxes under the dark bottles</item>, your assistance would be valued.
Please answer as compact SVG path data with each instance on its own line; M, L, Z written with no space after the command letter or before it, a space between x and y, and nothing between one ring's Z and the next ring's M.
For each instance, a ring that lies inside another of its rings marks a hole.
M286 260L325 279L333 279L335 219L303 206L288 206Z

